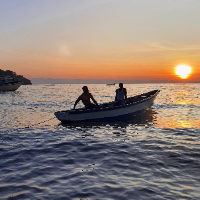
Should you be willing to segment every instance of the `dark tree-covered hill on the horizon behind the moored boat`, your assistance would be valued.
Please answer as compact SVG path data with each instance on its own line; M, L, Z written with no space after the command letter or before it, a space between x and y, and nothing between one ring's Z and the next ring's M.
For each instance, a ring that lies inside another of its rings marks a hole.
M22 85L32 85L31 81L22 75L17 75L15 72L11 70L1 70L0 69L0 76L11 76L15 81L22 81Z

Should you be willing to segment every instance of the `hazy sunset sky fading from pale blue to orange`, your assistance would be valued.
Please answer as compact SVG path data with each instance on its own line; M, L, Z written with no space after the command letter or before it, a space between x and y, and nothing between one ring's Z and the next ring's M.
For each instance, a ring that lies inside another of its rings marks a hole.
M0 69L26 78L200 82L199 0L0 0ZM192 67L188 80L175 66Z

